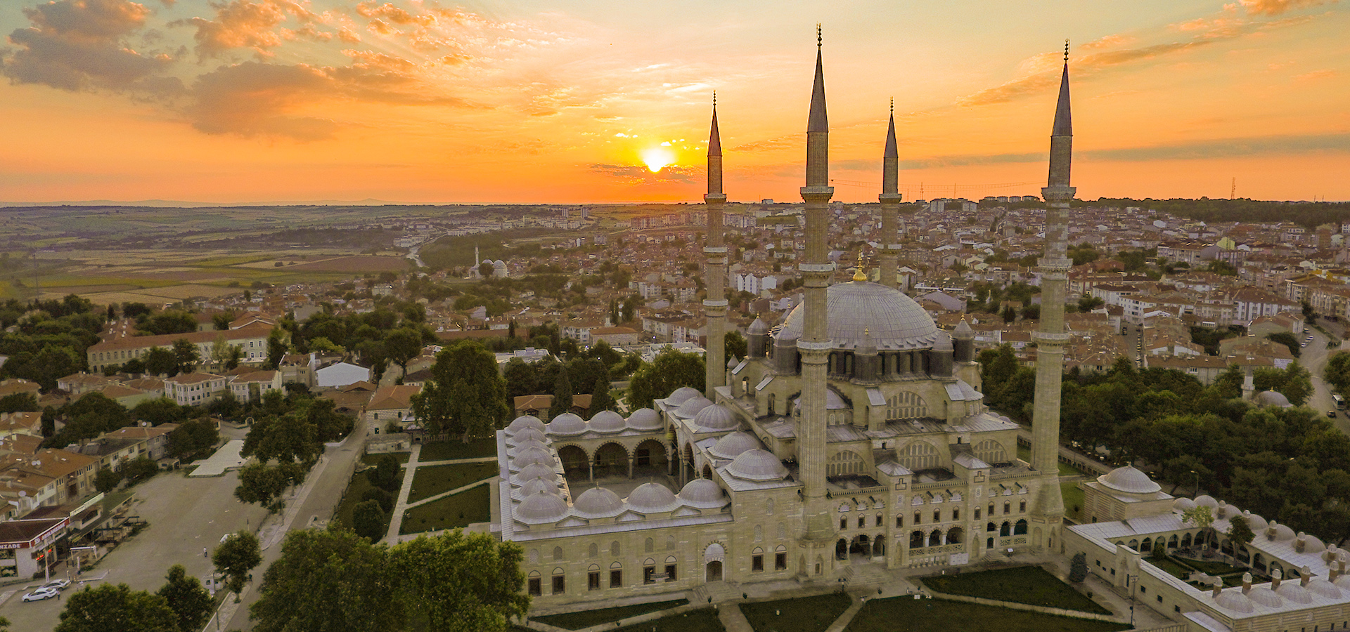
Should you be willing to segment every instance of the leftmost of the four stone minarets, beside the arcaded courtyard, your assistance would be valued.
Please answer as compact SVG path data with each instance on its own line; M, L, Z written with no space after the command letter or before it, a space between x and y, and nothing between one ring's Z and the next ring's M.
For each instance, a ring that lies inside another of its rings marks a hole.
M707 136L707 240L703 243L705 280L707 296L703 299L703 315L707 318L707 354L705 357L703 393L716 402L714 389L725 385L726 345L726 245L722 241L722 137L717 132L717 93L713 93L713 129Z

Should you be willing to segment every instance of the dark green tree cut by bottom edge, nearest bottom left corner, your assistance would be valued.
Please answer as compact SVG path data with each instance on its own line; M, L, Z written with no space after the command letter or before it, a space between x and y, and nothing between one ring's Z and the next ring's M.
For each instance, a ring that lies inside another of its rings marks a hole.
M178 632L178 616L158 594L100 583L66 600L55 632Z

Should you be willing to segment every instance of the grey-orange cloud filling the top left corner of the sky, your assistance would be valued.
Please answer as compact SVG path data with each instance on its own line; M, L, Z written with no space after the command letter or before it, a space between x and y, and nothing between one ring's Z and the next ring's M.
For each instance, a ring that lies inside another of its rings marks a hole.
M58 0L26 8L32 23L9 34L18 49L0 57L0 73L19 84L62 90L171 93L174 78L155 77L173 65L167 53L139 53L127 36L150 9L128 0Z

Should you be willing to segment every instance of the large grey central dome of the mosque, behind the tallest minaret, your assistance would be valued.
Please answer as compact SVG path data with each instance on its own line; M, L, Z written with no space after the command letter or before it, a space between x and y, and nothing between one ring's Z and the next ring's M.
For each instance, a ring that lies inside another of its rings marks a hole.
M867 331L878 350L927 349L937 341L933 318L899 290L878 283L836 283L825 288L829 337L836 349L857 349ZM806 319L798 305L778 338L801 338Z

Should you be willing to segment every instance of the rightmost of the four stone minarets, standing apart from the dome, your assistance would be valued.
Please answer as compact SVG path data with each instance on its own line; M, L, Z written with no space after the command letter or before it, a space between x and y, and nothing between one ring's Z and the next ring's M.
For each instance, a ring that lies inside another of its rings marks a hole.
M1050 177L1045 197L1045 256L1041 272L1041 329L1033 334L1035 353L1035 407L1031 415L1031 468L1041 474L1041 489L1031 512L1033 544L1052 551L1064 548L1060 527L1064 496L1060 492L1060 388L1064 379L1064 296L1072 261L1068 257L1068 214L1075 189L1069 186L1073 159L1073 125L1069 117L1069 43L1064 43L1064 75L1060 102L1050 131Z

